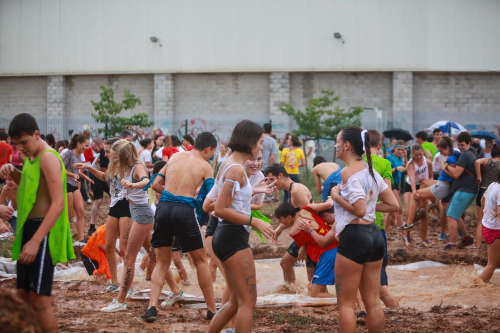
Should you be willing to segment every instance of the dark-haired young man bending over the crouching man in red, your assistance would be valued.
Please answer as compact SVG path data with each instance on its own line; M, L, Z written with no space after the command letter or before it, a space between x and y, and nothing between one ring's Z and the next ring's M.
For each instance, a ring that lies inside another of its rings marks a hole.
M303 184L292 181L281 164L274 163L273 165L268 166L264 170L264 176L268 177L270 183L276 182L276 188L278 190L287 190L290 192L290 202L297 212L300 211L301 207L312 203L312 194L309 189ZM283 232L283 230L288 229L289 227L291 227L291 224L280 224L274 231L275 236L273 242L277 242L279 235ZM295 282L293 265L295 265L297 261L302 261L305 258L307 258L305 263L307 268L307 279L311 281L316 264L307 256L305 246L299 249L295 242L291 243L279 263L283 270L283 278L286 283Z

